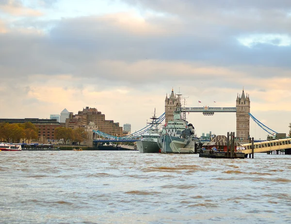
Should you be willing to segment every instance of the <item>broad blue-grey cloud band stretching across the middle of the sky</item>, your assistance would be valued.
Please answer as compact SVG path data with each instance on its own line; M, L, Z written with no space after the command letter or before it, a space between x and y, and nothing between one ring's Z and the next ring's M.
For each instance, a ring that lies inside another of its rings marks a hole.
M162 4L161 2L157 1L157 4ZM130 66L134 62L148 59L237 68L245 65L290 68L290 46L277 47L268 44L257 44L253 48L242 46L236 39L236 35L244 34L239 28L214 26L202 20L199 23L179 21L180 23L174 24L179 30L173 32L173 20L151 17L147 22L159 24L162 29L171 32L136 34L116 26L114 19L99 17L48 22L30 19L17 22L16 27L24 27L28 23L38 29L46 30L52 24L53 28L47 35L24 34L17 31L0 34L0 72L3 76L9 77L72 74L89 79L113 79L127 83L140 82L139 75L115 71L106 67L108 65L102 66L99 62L117 60L124 61ZM167 77L164 71L159 70L157 73L161 78ZM273 73L254 75L274 76Z

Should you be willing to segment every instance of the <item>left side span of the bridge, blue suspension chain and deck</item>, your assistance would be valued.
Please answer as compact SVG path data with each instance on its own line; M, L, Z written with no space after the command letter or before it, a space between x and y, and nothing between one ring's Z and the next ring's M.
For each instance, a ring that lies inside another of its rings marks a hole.
M142 128L141 130L134 132L132 134L122 136L122 137L117 137L113 136L111 134L106 134L104 132L100 132L98 130L93 130L93 142L98 143L98 142L135 142L139 141L139 137L146 133L150 128L152 128L155 125L160 124L163 120L165 119L165 113L163 113L160 117L158 117L154 122L148 124L146 127Z

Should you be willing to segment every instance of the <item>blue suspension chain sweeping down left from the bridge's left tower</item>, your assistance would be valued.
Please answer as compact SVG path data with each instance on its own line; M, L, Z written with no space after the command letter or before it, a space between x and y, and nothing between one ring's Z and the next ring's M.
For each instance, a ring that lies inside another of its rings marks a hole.
M161 123L163 120L165 119L165 113L163 113L158 119L156 119L155 122L152 122L150 124L148 124L146 127L142 128L141 130L134 132L132 134L123 136L123 137L117 137L117 136L113 136L111 134L106 134L104 132L100 132L98 130L93 130L94 133L104 137L104 138L113 138L113 139L132 139L132 138L137 138L138 136L144 134L147 130L149 130L153 125L157 125L158 123Z

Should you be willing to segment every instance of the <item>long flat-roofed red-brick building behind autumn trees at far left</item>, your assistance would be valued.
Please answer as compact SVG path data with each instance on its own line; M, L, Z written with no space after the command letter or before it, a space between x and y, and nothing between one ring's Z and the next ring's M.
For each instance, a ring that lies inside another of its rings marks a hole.
M0 119L0 122L7 123L25 123L31 122L38 128L38 138L40 142L46 143L47 139L54 139L54 130L61 127L56 119L38 119L38 118L25 118L25 119Z

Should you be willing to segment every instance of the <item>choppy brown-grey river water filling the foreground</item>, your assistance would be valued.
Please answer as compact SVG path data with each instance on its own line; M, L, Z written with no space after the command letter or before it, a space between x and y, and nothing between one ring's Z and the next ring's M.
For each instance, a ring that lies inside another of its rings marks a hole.
M288 224L291 155L0 152L1 224Z

